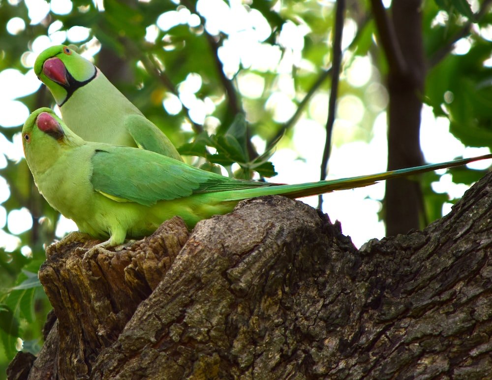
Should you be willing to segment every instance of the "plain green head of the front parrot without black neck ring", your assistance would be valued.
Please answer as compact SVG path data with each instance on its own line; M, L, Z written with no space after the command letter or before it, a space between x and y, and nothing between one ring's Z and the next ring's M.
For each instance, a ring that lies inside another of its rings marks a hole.
M33 172L44 172L63 151L84 143L50 108L35 110L22 128L24 156Z

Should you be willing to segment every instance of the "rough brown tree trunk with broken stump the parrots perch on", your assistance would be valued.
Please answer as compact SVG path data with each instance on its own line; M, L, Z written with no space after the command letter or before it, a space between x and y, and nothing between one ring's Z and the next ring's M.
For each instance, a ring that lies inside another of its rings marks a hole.
M424 231L360 250L278 196L189 236L175 218L119 253L51 246L39 277L57 319L9 376L490 379L491 181Z

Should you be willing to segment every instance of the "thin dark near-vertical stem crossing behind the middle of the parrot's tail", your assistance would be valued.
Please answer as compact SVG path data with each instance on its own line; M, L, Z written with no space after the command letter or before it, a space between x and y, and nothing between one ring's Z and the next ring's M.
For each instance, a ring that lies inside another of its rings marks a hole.
M335 35L333 38L333 63L332 63L332 86L330 89L330 100L328 104L328 118L326 121L326 140L323 158L321 160L320 179L324 180L327 174L328 158L332 146L332 131L335 123L335 113L337 106L338 95L338 80L341 66L341 37L343 34L343 15L345 11L345 0L337 0L337 8L335 11ZM318 208L323 205L323 196L318 197Z

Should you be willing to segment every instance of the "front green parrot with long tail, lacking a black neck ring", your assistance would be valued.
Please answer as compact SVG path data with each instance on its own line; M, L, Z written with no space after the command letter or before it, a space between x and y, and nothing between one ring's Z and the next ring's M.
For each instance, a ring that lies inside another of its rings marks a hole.
M151 151L84 141L49 108L30 115L22 137L38 190L51 206L77 223L80 232L109 237L102 247L150 235L176 215L191 228L202 219L231 212L242 199L276 194L298 198L492 158L486 155L369 176L278 185L224 177Z

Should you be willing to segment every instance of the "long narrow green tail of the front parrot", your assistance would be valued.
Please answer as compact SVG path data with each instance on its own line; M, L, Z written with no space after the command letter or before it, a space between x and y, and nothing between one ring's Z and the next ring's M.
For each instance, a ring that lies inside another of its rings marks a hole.
M225 195L225 199L222 200L241 200L246 198L252 198L261 195L284 195L289 198L300 198L303 196L324 194L334 190L347 190L361 188L364 186L373 185L376 182L384 181L387 179L407 177L413 174L425 173L432 170L444 169L449 167L466 165L473 161L479 161L482 159L492 158L492 154L456 159L454 161L431 163L429 165L414 166L405 169L391 170L384 173L370 174L358 177L340 178L330 181L318 181L308 182L299 185L273 185L242 189L242 190L229 190L222 192Z

